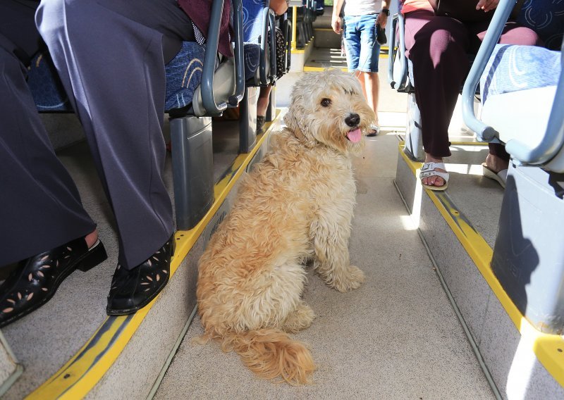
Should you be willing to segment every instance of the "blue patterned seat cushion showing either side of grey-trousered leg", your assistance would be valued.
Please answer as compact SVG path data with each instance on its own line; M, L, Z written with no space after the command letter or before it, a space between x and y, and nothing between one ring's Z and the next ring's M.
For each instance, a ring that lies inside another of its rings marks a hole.
M192 102L202 80L204 47L183 42L182 49L166 67L165 110L182 108ZM73 111L47 51L37 54L28 68L27 85L39 111Z

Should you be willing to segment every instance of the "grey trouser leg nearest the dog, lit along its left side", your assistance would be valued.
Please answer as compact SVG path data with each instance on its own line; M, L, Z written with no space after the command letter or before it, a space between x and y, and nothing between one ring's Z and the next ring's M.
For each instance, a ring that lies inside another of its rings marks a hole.
M36 22L116 215L119 263L135 268L173 233L163 42L189 39L190 20L173 0L44 0Z

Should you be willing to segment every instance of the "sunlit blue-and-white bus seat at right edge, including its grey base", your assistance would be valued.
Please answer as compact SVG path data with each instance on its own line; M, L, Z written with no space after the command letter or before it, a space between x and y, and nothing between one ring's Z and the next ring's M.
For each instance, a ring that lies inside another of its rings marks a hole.
M477 137L505 142L511 156L491 269L513 304L537 330L562 335L563 53L562 47L560 52L551 52L529 46L498 46L514 4L501 0L494 13L462 91L462 114ZM505 79L508 66L513 72ZM479 120L470 99L481 77L488 93ZM510 118L515 120L508 121Z

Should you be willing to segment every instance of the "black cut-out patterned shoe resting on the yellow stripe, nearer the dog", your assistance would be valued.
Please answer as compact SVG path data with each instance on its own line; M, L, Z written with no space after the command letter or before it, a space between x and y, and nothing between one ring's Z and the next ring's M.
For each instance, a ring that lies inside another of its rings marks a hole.
M108 295L108 315L128 315L143 308L161 292L171 275L174 235L145 263L127 270L118 264Z

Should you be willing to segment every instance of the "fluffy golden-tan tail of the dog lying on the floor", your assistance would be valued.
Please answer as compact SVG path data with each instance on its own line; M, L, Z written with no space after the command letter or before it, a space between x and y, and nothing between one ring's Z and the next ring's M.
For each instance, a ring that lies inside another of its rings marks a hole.
M223 350L235 350L258 377L281 377L290 385L309 383L315 370L312 354L302 342L273 328L223 337Z

